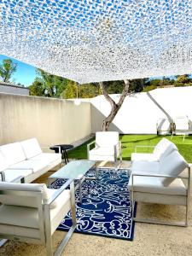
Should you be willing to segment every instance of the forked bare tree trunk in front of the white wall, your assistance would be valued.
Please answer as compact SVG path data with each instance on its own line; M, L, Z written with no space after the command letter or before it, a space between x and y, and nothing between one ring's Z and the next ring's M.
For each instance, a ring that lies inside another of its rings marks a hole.
M113 101L113 99L108 95L108 92L105 88L105 85L103 82L100 82L100 87L102 89L102 94L103 96L105 96L106 100L110 103L111 105L111 112L109 113L108 117L105 118L102 121L102 131L108 131L108 127L111 124L111 122L113 121L113 119L115 118L116 114L119 111L119 108L122 106L124 100L125 100L125 96L127 96L128 94L128 90L129 90L129 86L130 86L130 82L129 80L124 80L125 82L125 87L124 90L122 91L122 94L119 98L119 102L116 103Z

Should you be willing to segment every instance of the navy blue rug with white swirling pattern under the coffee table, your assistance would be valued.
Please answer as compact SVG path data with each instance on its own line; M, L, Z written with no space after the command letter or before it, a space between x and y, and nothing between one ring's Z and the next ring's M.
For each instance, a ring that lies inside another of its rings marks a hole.
M94 175L94 169L86 173L87 177ZM78 202L76 208L76 232L133 240L134 222L127 189L129 177L130 173L125 169L99 169L97 180L84 180L83 201L82 204ZM59 189L63 183L64 179L57 179L50 188ZM79 199L79 189L76 190L76 198ZM69 230L72 225L70 215L68 212L57 230Z

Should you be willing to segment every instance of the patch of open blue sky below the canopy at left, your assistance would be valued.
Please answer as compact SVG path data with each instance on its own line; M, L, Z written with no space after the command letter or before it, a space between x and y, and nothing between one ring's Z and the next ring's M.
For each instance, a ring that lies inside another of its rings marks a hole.
M2 64L2 61L4 59L8 59L8 56L0 55L0 64ZM17 61L13 58L12 59L15 63L17 63L17 70L14 73L11 81L15 82L15 84L24 84L25 86L29 86L32 84L36 77L36 68L32 67L30 65L27 65L24 62Z

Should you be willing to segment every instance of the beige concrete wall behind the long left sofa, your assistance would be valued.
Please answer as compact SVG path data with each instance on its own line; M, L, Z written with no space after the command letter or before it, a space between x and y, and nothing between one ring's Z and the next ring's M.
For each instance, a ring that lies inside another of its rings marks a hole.
M42 146L90 135L90 102L0 93L0 144L37 137Z

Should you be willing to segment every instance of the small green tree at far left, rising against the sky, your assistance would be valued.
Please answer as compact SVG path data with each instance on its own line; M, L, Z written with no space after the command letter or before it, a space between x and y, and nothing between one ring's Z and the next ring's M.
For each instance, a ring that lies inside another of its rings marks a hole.
M17 64L11 59L4 59L0 65L0 78L3 82L10 82L12 75L16 72Z

